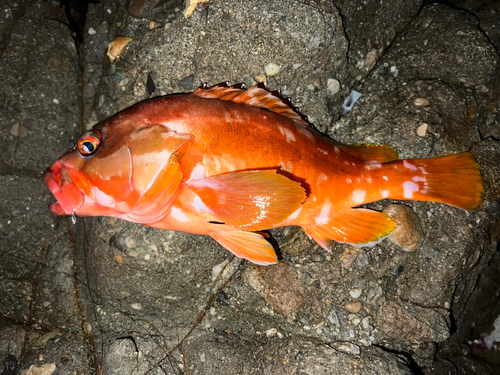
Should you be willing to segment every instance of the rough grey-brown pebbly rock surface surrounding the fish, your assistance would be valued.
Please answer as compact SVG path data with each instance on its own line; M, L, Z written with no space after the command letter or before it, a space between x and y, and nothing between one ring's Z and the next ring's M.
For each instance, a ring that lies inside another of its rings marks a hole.
M179 2L134 3L160 6L141 19L117 0L89 4L78 47L56 3L1 5L0 358L16 357L21 373L55 363L54 374L472 368L456 353L476 306L494 309L486 286L500 269L500 65L477 19L421 1L215 0L189 18ZM118 36L132 41L111 63ZM405 202L425 234L413 252L384 240L326 253L298 228L273 230L283 259L267 268L208 237L51 216L41 172L85 128L222 81L280 89L342 142L389 144L402 158L469 150L485 203ZM361 99L341 117L352 89Z

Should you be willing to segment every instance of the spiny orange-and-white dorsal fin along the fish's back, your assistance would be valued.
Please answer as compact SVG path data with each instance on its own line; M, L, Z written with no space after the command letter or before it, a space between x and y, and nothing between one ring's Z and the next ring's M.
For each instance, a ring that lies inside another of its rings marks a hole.
M270 92L263 83L259 83L248 90L244 90L242 84L228 86L227 83L219 83L211 87L201 86L193 91L193 95L209 99L229 100L234 103L265 108L287 117L297 125L309 127L305 116L301 116L292 107L290 100L281 98L278 91Z

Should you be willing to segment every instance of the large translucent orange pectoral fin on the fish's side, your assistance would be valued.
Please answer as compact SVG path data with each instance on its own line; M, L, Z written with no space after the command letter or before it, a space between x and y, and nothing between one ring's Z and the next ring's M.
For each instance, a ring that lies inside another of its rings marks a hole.
M281 223L306 198L305 190L274 170L232 172L187 184L207 212L236 228L259 231Z

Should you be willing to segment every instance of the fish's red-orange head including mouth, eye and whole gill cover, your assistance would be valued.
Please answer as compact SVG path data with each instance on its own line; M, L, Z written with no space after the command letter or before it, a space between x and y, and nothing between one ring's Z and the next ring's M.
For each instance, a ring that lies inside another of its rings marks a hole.
M148 223L164 215L182 182L179 153L192 139L117 115L85 133L44 172L55 215Z

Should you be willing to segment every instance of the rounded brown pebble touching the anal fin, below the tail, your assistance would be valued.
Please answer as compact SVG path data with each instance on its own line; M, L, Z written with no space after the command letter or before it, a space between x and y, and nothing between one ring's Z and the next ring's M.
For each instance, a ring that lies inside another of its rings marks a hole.
M390 204L384 208L384 213L397 224L389 236L389 240L400 246L404 251L417 250L424 240L424 233L415 212L403 204Z

